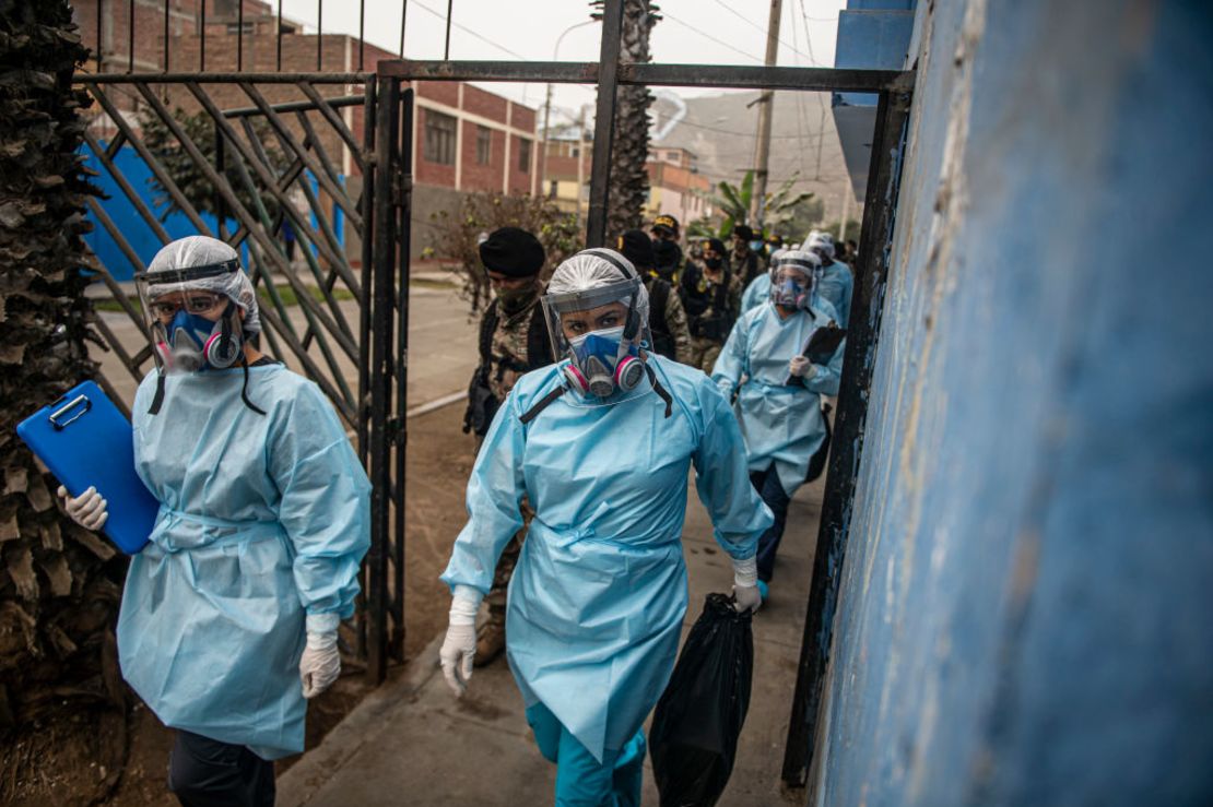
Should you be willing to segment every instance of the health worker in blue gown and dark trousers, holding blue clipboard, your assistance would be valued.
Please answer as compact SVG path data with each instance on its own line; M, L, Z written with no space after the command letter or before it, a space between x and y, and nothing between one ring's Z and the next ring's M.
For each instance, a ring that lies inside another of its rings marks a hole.
M370 483L314 383L263 356L235 250L173 241L136 276L156 366L132 407L136 471L160 500L118 620L123 677L177 729L187 807L273 805L306 699L337 680L370 545ZM95 488L66 499L99 530Z

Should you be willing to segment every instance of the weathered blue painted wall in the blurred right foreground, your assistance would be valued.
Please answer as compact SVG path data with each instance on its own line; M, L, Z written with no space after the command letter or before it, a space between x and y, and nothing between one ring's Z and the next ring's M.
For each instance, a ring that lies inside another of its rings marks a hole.
M917 13L810 803L1213 803L1213 5Z

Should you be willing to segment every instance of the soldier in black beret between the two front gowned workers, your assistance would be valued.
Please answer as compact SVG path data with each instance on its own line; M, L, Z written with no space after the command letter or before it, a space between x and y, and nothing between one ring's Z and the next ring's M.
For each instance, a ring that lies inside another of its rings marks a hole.
M489 431L492 416L506 400L518 378L531 370L552 364L552 348L539 304L542 293L539 275L546 256L530 233L505 227L480 245L480 262L492 286L495 299L480 320L480 364L468 387L463 431L475 434L477 453ZM492 589L484 599L489 619L477 633L475 664L488 664L506 646L506 589L522 551L531 510L523 503L525 525L518 531L497 561Z

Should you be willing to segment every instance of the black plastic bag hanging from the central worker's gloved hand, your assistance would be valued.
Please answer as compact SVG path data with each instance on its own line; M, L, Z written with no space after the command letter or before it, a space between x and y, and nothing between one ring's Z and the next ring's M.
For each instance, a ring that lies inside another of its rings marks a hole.
M736 760L750 709L751 613L708 594L653 717L649 748L661 807L711 807Z

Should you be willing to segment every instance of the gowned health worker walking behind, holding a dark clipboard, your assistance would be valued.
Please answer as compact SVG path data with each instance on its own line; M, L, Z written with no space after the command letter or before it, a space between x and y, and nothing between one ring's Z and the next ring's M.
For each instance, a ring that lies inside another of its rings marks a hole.
M833 321L811 305L819 268L815 254L799 250L773 259L770 297L738 320L712 368L722 395L736 395L751 481L775 519L758 543L764 599L788 503L826 436L820 396L837 395L842 374L842 344L820 364L802 355L814 331Z

